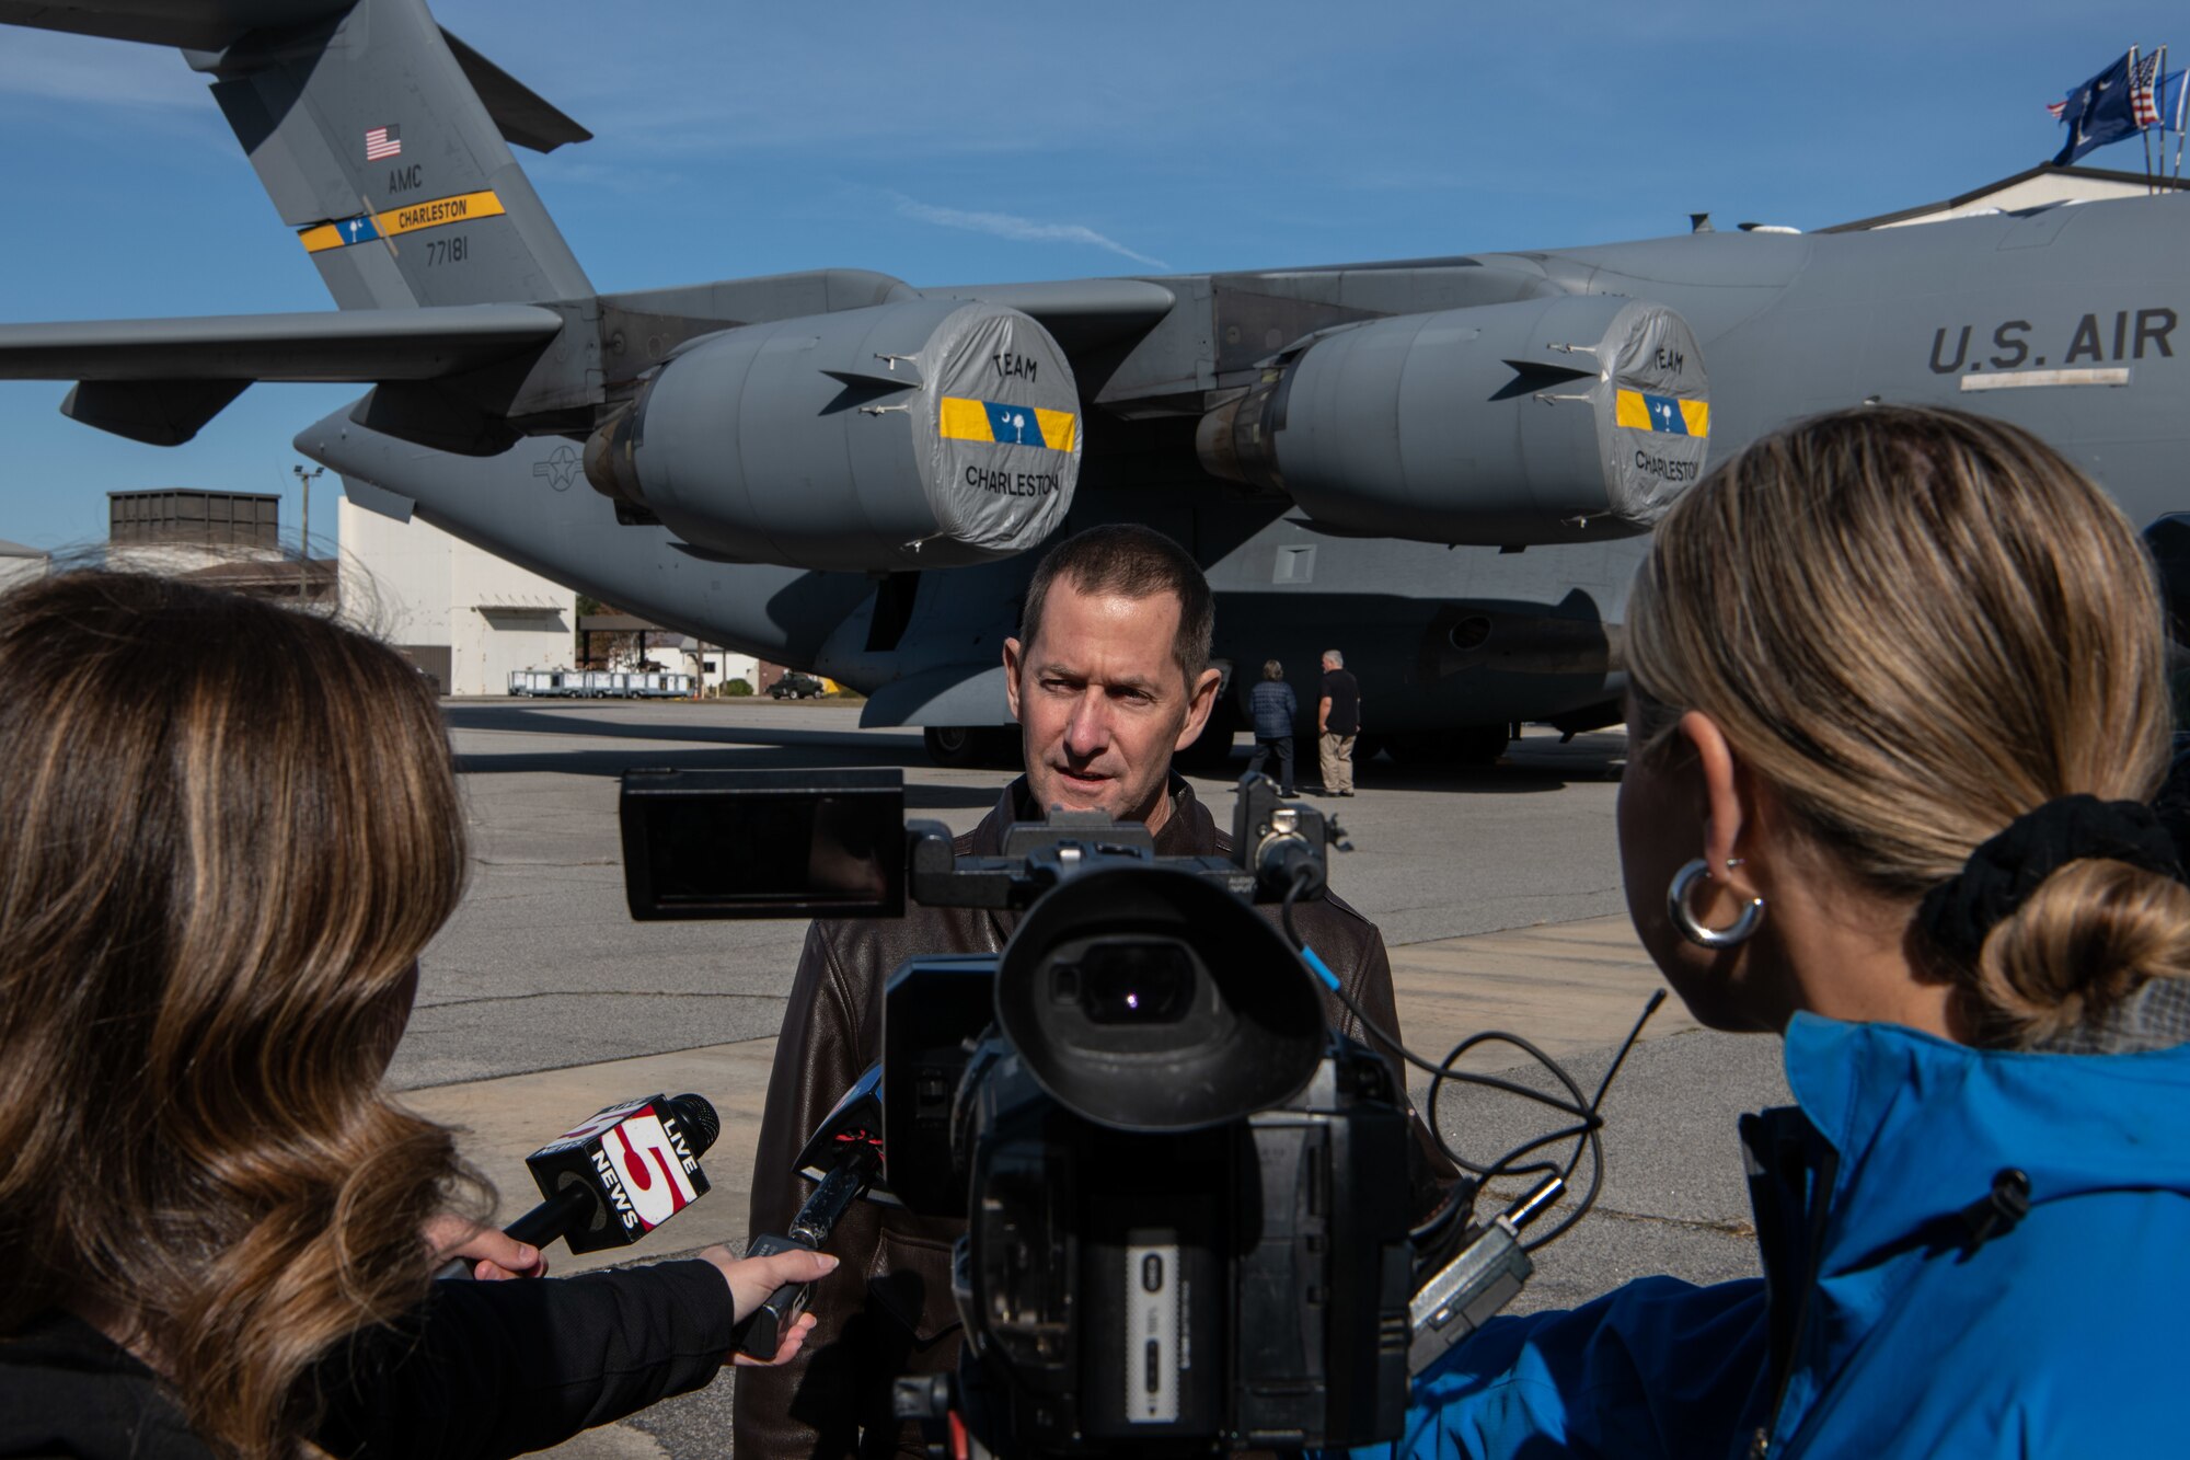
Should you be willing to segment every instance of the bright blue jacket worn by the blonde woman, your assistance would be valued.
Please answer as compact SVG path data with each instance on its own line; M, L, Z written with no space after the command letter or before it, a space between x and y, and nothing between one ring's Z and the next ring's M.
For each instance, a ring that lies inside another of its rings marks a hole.
M1796 1015L1787 1083L1798 1107L1741 1122L1761 1280L1494 1320L1415 1381L1404 1442L1356 1456L2190 1453L2190 1046ZM2030 1214L1971 1247L1960 1212L2008 1166Z

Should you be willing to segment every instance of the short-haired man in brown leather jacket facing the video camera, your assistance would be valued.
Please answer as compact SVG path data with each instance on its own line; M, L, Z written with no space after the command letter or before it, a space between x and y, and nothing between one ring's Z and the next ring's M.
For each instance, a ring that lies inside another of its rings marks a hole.
M1202 732L1215 706L1209 669L1215 607L1200 566L1143 526L1099 526L1058 544L1036 568L1021 638L1005 640L1012 715L1027 774L957 840L957 853L999 855L1012 822L1049 807L1108 811L1150 826L1159 857L1229 853L1172 752ZM1266 910L1275 919L1275 910ZM753 1232L784 1232L806 1182L793 1162L837 1096L880 1059L883 982L913 954L996 954L1016 914L909 908L902 921L817 921L806 934L753 1171ZM1397 1033L1384 938L1336 897L1303 903L1294 921L1356 1004ZM1332 1024L1360 1026L1325 993ZM791 1456L920 1456L889 1412L891 1379L957 1364L950 1247L964 1221L856 1204L828 1250L843 1258L815 1287L819 1326L784 1368L738 1372L734 1449L745 1460Z

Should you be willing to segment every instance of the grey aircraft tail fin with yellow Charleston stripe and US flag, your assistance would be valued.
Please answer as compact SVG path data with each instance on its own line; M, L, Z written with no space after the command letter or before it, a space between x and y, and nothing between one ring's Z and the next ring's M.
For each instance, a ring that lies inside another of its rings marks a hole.
M188 59L215 77L228 125L342 309L591 296L506 140L545 151L585 140L583 127L447 35L425 0L333 15L304 0L298 13L302 24Z

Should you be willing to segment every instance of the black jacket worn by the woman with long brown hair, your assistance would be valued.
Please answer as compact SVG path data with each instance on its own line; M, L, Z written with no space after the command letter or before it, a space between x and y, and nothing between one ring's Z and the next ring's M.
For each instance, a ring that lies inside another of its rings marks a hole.
M731 1346L712 1263L537 1282L436 1282L403 1322L322 1361L333 1456L488 1460L703 1388ZM0 1339L0 1456L210 1460L164 1385L79 1318Z

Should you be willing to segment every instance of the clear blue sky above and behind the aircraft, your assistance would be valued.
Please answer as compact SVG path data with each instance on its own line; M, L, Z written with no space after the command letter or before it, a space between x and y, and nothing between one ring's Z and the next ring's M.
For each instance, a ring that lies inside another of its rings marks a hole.
M445 0L596 140L519 151L598 289L819 265L911 283L1557 248L1686 213L1816 228L2048 158L2043 105L2151 4L876 4ZM2181 37L2190 55L2190 33ZM171 50L0 26L0 320L326 309ZM2089 158L2142 169L2135 140ZM254 386L197 441L0 381L0 537L105 493L287 491L346 386ZM315 491L313 535L335 493Z

